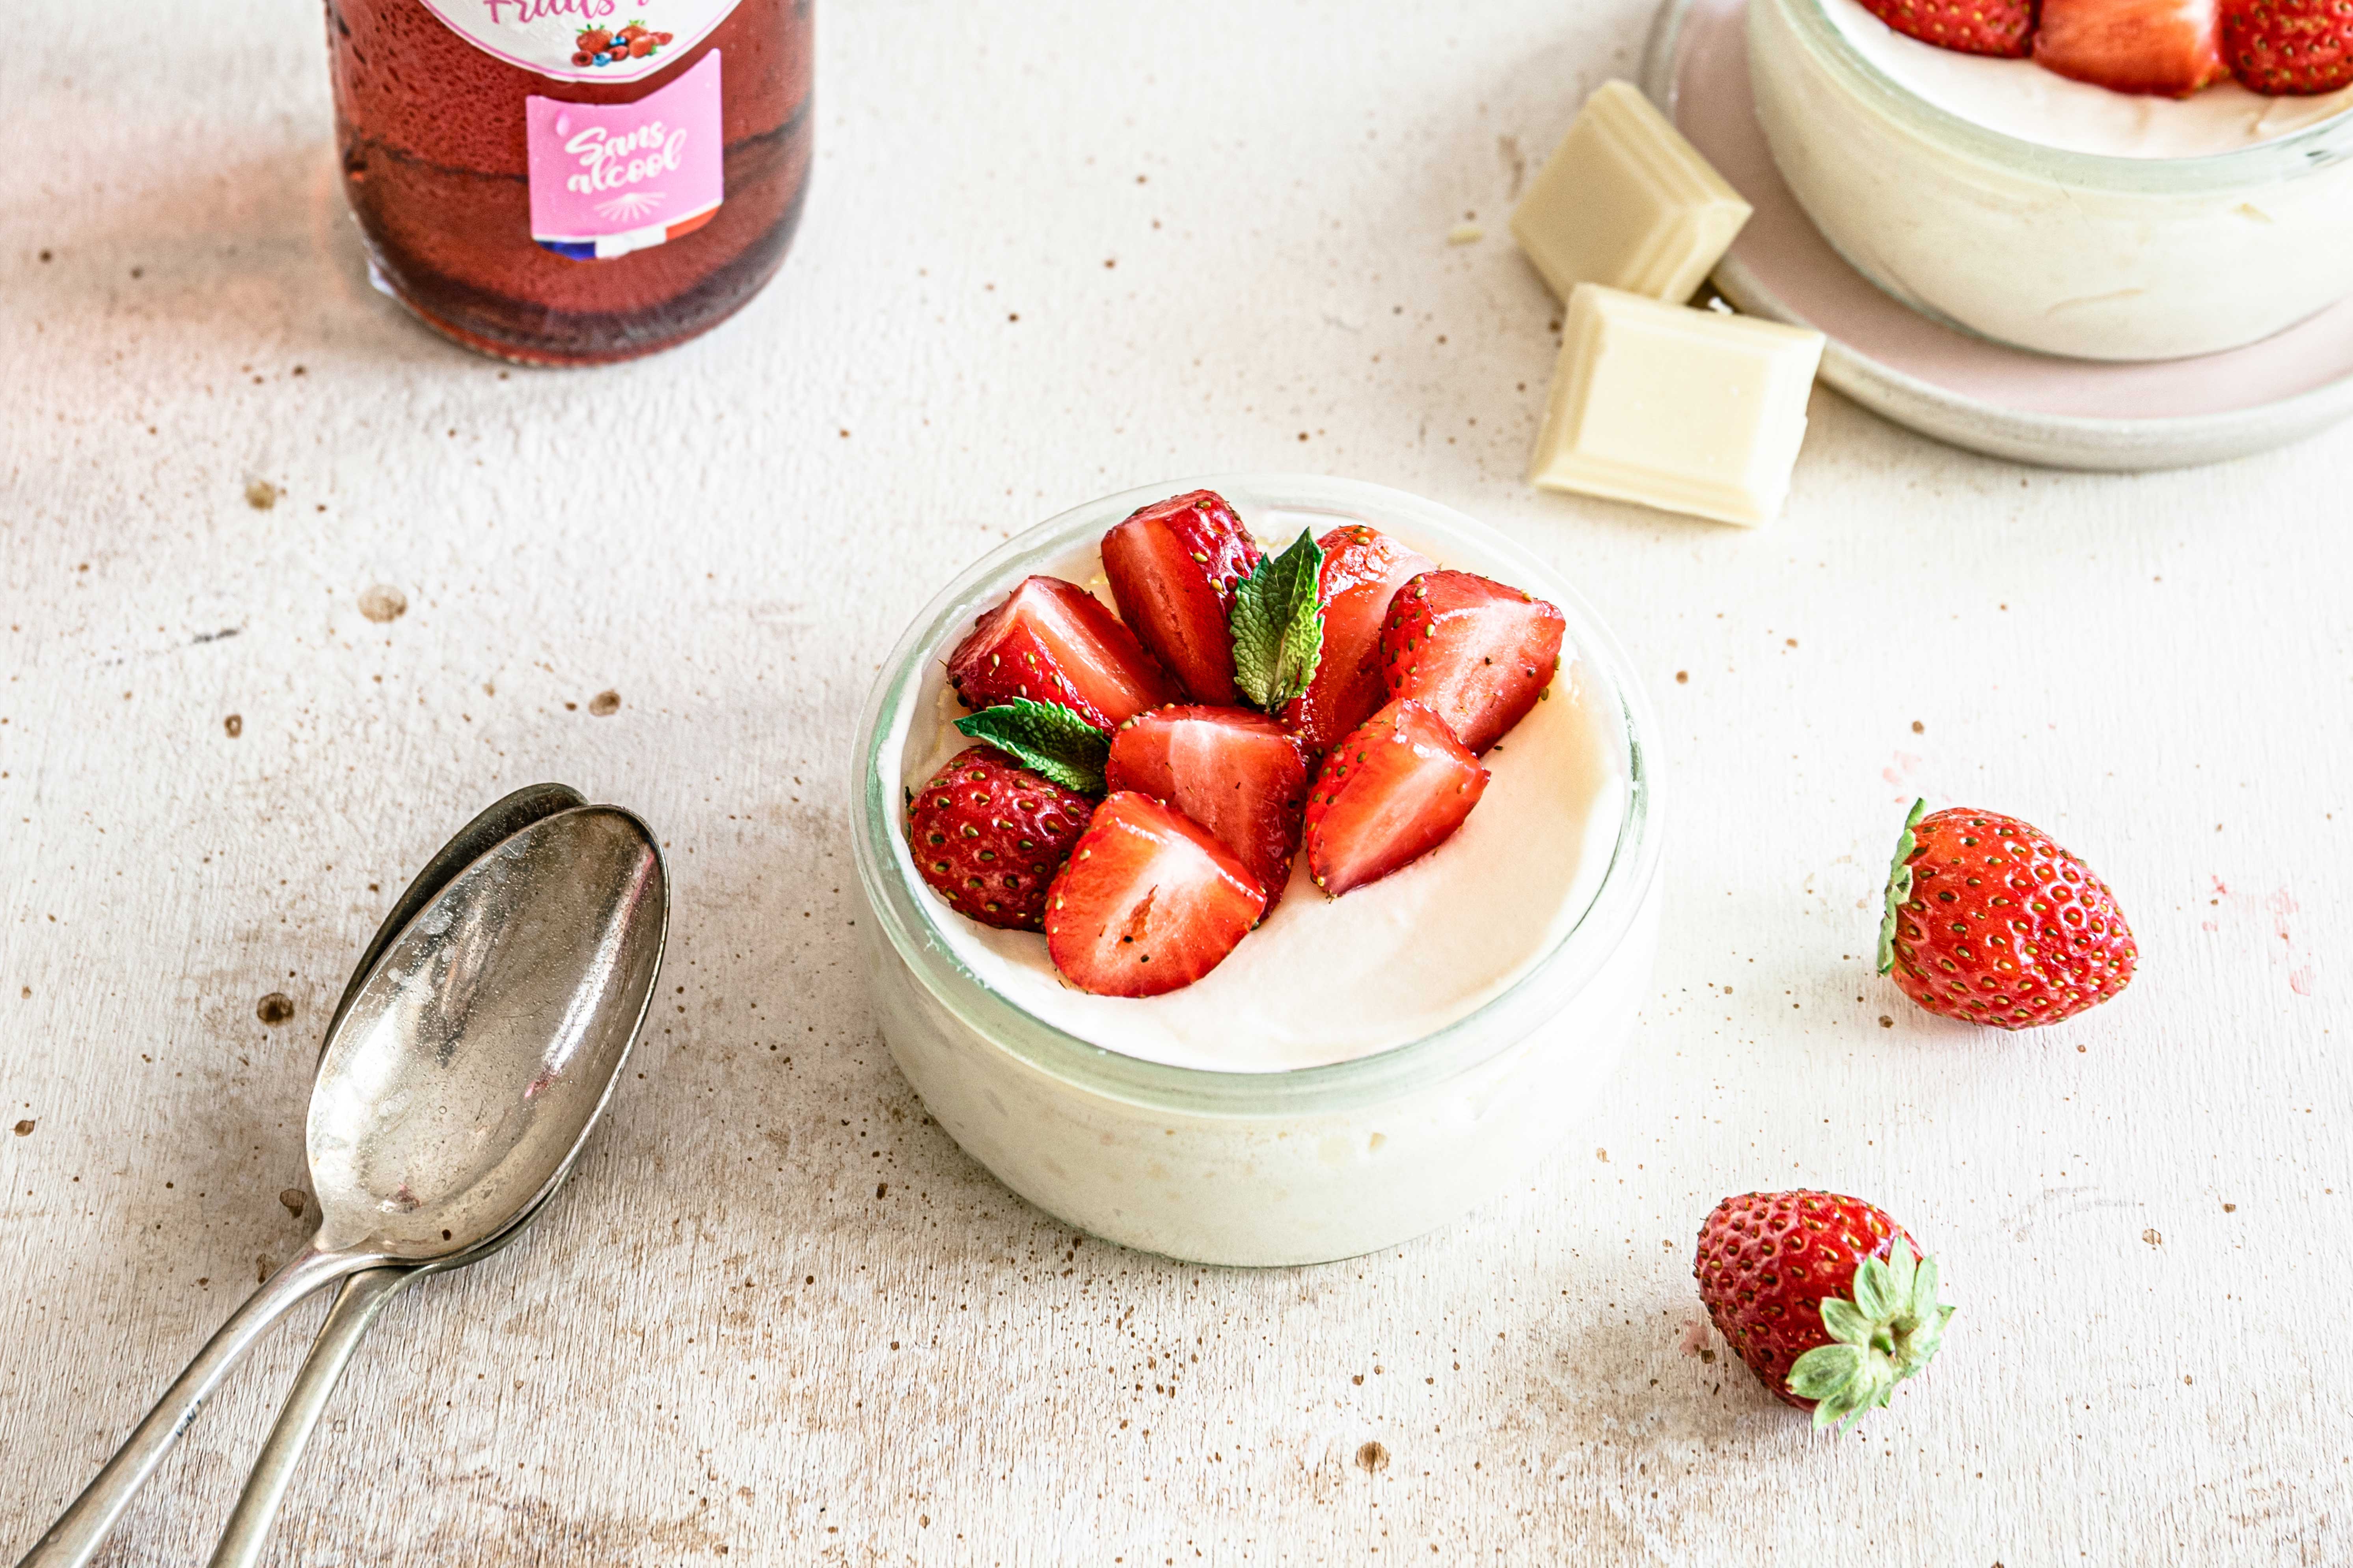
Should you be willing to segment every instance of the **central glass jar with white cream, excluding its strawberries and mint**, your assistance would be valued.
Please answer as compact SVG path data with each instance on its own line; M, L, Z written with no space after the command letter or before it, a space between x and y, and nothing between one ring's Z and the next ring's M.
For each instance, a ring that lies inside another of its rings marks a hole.
M1567 618L1553 696L1487 755L1487 795L1421 863L1337 903L1294 872L1273 917L1188 990L1064 990L1042 938L974 926L922 884L904 788L960 750L939 733L939 661L972 616L1031 571L1085 567L1104 529L1191 487L1066 512L941 595L868 701L854 851L875 1018L925 1110L1066 1222L1200 1262L1351 1258L1492 1199L1598 1107L1657 952L1649 717L1577 595L1475 522L1346 480L1207 484L1264 541L1365 522L1553 599ZM1553 806L1558 820L1534 820ZM1414 936L1433 914L1461 940ZM1259 964L1275 987L1249 999Z

